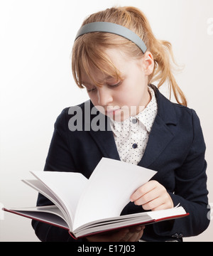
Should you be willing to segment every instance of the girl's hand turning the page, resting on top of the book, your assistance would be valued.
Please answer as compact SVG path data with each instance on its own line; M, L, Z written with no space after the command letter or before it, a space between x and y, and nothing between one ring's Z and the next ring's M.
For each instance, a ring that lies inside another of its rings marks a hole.
M173 208L173 200L158 181L148 181L138 188L130 198L136 206L142 206L144 210L164 210Z

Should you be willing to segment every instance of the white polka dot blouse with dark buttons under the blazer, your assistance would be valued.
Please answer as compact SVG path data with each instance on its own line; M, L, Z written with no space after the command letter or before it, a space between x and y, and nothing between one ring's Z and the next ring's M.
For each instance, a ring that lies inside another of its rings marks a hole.
M158 112L155 92L151 87L148 87L148 90L151 92L151 101L143 111L135 117L129 117L124 122L110 119L111 130L114 133L121 161L138 164L146 149L148 136Z

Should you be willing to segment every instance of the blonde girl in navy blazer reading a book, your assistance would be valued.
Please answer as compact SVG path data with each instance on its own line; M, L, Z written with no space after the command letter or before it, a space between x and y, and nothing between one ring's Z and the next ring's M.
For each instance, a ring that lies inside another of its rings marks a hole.
M88 241L180 241L209 225L202 129L171 73L171 59L170 43L157 40L146 17L133 7L92 14L77 33L72 73L77 85L88 92L90 111L88 102L78 106L82 127L71 122L76 107L62 111L45 170L82 172L89 178L103 156L138 164L158 173L131 195L121 214L167 209L178 203L190 213L145 229L95 235ZM168 81L178 104L151 84L157 80L158 87ZM94 114L94 107L99 114ZM97 116L99 122L94 122ZM88 120L93 120L89 129ZM48 204L47 198L38 196L38 206ZM33 221L33 228L40 240L72 241L66 230L38 221Z

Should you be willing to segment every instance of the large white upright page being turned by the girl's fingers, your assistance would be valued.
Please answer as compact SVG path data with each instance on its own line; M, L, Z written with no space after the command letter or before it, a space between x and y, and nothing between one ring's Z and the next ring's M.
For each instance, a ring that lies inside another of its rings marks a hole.
M131 194L155 174L141 166L102 158L82 193L73 229L93 220L119 216Z

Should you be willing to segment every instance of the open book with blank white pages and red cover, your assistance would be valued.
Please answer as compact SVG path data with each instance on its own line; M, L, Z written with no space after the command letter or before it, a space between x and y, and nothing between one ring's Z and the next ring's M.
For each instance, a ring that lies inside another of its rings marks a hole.
M156 173L141 166L102 158L89 179L71 172L31 173L35 179L24 182L54 205L4 210L65 228L73 238L187 215L182 207L120 215L131 194Z

